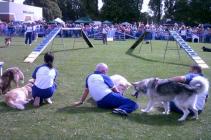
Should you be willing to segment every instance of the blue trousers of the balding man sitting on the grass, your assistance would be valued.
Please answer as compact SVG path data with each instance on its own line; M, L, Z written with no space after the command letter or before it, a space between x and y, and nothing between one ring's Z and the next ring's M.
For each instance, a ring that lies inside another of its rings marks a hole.
M97 106L100 108L119 108L131 113L138 108L138 104L118 93L110 93L102 100L97 101Z

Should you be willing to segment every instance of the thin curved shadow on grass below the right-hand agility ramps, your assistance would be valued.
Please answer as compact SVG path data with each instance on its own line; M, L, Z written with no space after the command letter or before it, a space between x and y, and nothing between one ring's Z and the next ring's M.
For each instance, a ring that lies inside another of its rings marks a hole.
M142 59L144 61L148 61L148 62L167 63L167 64L171 64L171 65L189 67L189 65L187 65L187 64L179 64L179 63L174 63L174 62L164 62L164 61L159 61L159 60L153 60L153 59L144 58L144 57L141 57L141 56L137 56L137 55L133 54L132 52L133 52L133 50L128 49L125 54L130 55L130 56L135 57L135 58Z

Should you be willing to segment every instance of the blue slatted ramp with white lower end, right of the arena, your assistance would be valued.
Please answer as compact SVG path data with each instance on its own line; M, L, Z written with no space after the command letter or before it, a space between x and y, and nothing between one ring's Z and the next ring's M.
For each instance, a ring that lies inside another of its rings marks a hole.
M175 39L178 45L185 50L189 57L195 61L201 68L208 69L209 66L202 60L202 58L186 43L176 31L169 31L171 36Z

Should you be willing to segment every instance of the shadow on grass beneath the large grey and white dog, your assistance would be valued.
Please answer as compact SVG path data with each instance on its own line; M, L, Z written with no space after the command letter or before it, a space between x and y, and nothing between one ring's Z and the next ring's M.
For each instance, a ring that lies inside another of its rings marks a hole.
M178 122L179 114L147 114L147 113L132 113L128 120L136 123L156 125L156 126L181 126L184 123Z

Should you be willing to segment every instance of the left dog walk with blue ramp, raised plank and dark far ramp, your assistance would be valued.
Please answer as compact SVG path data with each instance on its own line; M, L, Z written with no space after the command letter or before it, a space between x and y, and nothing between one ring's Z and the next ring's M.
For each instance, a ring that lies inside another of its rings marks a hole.
M37 47L34 48L34 50L28 55L28 57L24 60L26 63L33 63L34 60L45 50L45 48L54 40L54 38L57 36L57 34L62 30L80 30L82 33L82 37L87 43L87 45L90 48L93 48L94 46L89 41L88 37L84 33L84 31L81 28L54 28L43 40L42 42L37 45Z

